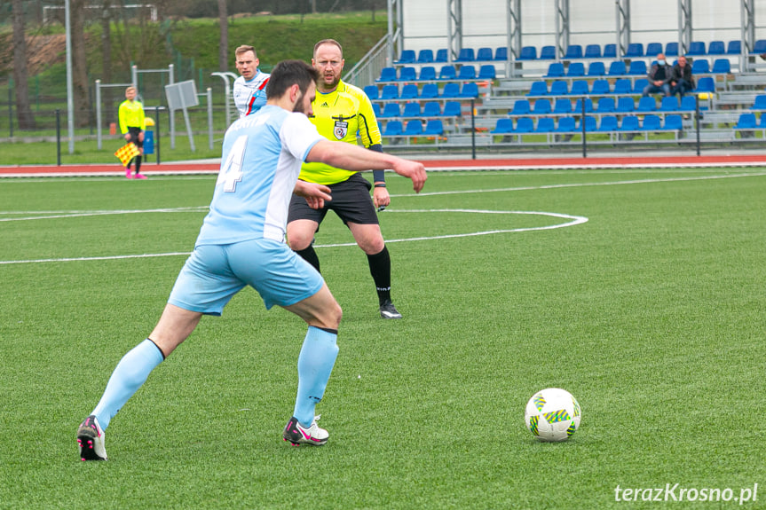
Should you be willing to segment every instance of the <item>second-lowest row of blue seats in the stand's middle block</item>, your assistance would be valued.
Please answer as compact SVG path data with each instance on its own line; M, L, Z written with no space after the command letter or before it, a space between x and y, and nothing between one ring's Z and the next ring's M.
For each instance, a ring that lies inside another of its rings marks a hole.
M694 96L684 96L679 103L678 98L675 96L662 98L657 103L657 99L647 96L640 98L636 104L634 98L622 97L617 101L614 98L600 98L596 102L596 108L594 109L594 102L591 98L585 98L585 111L586 113L596 114L631 114L638 113L651 113L651 112L693 112L697 106L697 98ZM509 112L512 116L521 115L569 115L579 114L582 112L582 99L577 99L574 105L571 99L558 98L555 103L551 105L548 99L537 99L534 103L526 99L517 99L513 108Z

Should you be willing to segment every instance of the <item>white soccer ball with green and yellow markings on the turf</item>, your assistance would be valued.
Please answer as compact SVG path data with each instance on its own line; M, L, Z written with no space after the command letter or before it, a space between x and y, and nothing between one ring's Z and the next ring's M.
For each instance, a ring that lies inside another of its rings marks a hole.
M571 393L560 388L546 388L526 403L525 423L541 441L566 441L580 428L580 404Z

